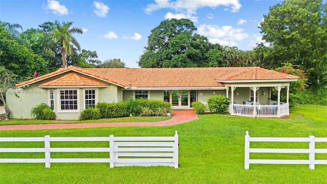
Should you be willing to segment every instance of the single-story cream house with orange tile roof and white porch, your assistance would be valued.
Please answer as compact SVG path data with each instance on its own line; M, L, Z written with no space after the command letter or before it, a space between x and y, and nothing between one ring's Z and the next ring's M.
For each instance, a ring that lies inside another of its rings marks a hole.
M213 95L230 99L229 113L250 117L289 114L288 91L297 76L261 67L200 68L81 68L69 66L16 84L7 94L11 118L32 118L31 108L41 102L51 106L57 119L78 119L82 110L98 102L120 102L130 97L167 101L173 109L191 109L192 102L206 104ZM272 88L278 100L270 100ZM287 102L280 91L287 90Z

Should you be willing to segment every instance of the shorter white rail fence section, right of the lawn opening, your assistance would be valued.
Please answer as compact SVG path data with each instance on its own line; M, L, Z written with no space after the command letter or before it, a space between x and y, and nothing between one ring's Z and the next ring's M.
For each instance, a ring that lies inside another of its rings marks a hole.
M289 148L250 148L250 142L308 142L308 149ZM315 148L315 143L327 143L327 138L315 136L306 137L250 137L248 131L245 135L244 168L249 169L250 164L308 164L311 170L316 164L327 165L326 160L315 159L315 153L327 153L326 149ZM250 159L250 153L308 153L309 159Z

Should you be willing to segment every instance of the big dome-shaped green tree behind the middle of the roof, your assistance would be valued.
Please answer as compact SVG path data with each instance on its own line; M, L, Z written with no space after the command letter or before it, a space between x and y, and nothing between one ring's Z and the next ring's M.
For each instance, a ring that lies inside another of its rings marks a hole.
M167 19L151 30L148 45L140 57L141 67L206 67L215 66L219 55L206 54L216 45L204 36L193 34L196 27L189 19ZM217 52L214 50L212 52ZM208 59L211 58L211 59ZM216 63L215 63L216 62Z

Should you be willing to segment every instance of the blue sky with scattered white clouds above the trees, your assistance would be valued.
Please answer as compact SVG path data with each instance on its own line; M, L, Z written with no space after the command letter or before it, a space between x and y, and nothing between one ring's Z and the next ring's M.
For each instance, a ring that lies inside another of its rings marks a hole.
M275 0L1 0L0 20L23 30L54 20L73 21L83 28L74 34L81 48L96 51L98 59L120 58L138 67L151 30L168 18L189 18L213 43L252 50L262 42L258 28Z

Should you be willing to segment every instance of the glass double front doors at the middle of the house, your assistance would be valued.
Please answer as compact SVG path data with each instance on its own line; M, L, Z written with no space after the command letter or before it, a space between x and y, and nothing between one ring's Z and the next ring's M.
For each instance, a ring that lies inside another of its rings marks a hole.
M189 90L172 90L171 102L173 108L190 108Z

